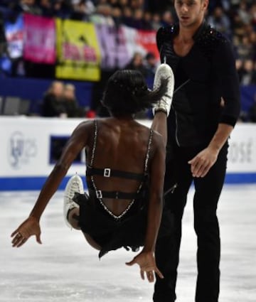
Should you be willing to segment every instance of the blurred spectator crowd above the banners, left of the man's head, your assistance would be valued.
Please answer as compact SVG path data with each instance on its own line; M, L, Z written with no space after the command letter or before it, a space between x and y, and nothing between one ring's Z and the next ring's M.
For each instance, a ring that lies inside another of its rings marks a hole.
M139 29L157 29L172 21L170 0L1 0L0 6L9 16L28 12Z

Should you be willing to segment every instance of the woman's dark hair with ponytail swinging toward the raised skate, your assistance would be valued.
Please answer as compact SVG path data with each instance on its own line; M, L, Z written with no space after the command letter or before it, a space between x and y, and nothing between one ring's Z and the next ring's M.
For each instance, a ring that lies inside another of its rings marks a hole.
M150 91L138 70L118 70L107 81L102 104L116 117L141 112L164 96L167 82L161 81L159 88Z

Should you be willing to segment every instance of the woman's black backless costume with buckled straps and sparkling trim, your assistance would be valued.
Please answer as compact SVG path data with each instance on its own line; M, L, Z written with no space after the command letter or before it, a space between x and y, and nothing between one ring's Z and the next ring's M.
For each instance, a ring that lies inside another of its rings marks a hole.
M114 170L112 168L94 168L95 150L97 146L97 121L95 120L95 136L93 141L90 164L87 165L87 194L75 194L74 201L80 205L79 225L82 232L90 236L102 247L99 257L110 250L129 247L136 251L144 245L147 225L147 204L149 201L148 161L153 131L149 131L148 148L145 155L144 173L132 173ZM134 193L119 191L103 191L97 188L94 176L106 178L117 177L139 180L138 190ZM102 198L116 198L131 200L127 208L120 215L114 215L102 202Z

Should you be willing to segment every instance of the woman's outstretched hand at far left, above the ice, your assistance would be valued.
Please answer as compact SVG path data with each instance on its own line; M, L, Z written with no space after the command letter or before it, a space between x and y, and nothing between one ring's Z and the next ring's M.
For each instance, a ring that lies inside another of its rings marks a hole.
M38 243L41 242L41 230L38 220L36 220L35 217L28 217L19 227L16 229L12 234L11 237L14 237L12 239L11 243L13 247L21 247L29 237L35 235L36 241Z

